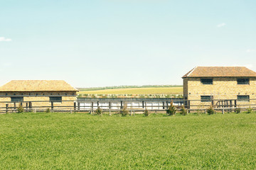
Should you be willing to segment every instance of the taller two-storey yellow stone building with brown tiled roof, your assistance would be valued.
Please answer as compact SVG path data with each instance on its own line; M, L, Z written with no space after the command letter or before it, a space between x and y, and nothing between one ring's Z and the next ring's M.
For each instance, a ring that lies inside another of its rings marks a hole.
M256 104L256 72L246 67L195 67L182 78L183 96L191 108Z

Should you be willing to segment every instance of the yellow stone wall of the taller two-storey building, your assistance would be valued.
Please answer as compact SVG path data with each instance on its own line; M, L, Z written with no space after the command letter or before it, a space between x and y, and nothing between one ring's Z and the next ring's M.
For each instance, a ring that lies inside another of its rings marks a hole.
M201 78L184 78L184 97L187 96L188 100L199 100L191 101L191 106L196 105L196 107L193 108L204 108L204 106L211 104L211 102L201 102L201 96L213 96L214 100L236 100L238 99L238 95L249 95L250 99L256 99L256 78L249 78L250 84L238 84L238 78L239 77L213 77L213 84L201 84ZM241 105L241 107L242 105L254 105L256 104L256 100L250 102L238 101L237 104Z

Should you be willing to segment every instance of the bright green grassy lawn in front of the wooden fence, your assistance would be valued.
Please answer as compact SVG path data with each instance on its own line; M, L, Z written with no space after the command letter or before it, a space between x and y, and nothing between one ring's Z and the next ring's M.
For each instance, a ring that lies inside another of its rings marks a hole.
M0 115L0 169L255 167L255 113Z

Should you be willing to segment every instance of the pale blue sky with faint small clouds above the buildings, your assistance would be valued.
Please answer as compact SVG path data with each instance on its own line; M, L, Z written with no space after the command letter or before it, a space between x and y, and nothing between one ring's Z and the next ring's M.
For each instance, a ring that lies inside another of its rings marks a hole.
M182 84L196 66L256 71L255 0L0 0L0 86Z

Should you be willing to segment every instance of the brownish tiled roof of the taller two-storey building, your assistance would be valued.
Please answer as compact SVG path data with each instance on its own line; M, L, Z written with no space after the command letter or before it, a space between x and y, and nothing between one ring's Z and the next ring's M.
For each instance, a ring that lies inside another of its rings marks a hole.
M256 77L256 72L246 67L195 67L186 77Z

